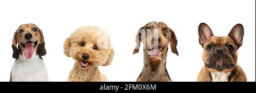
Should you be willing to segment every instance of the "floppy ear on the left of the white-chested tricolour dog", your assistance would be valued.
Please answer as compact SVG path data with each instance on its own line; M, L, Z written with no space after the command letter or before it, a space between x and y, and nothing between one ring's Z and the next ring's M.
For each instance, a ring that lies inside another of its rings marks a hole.
M17 31L18 31L18 29L17 29ZM17 34L18 34L17 31L14 33L13 45L11 46L13 48L13 58L15 58L15 59L19 58L19 50L17 48Z

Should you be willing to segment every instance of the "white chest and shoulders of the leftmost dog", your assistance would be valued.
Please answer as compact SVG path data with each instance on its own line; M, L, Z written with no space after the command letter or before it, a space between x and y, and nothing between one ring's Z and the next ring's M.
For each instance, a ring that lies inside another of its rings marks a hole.
M26 59L23 54L15 61L11 78L14 82L44 82L48 81L48 73L46 65L36 53L30 59Z

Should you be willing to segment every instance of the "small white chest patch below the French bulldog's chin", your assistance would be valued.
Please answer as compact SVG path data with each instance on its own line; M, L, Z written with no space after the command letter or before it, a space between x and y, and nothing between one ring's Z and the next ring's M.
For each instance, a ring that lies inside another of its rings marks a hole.
M211 73L212 74L212 81L213 82L229 82L229 75L231 72L229 73L222 73L222 72L214 72Z

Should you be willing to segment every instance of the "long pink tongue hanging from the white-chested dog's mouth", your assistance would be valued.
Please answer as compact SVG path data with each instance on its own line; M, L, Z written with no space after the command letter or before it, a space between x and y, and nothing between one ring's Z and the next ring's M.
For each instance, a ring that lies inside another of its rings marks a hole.
M27 59L30 59L34 53L34 43L26 43L25 44L25 50L24 50L24 56Z

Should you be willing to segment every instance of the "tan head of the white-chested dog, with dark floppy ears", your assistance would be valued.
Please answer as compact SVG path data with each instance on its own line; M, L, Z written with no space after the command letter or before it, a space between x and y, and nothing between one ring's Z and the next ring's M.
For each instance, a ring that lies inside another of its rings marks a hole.
M22 24L14 33L13 58L18 59L19 55L24 54L27 59L30 59L34 52L40 57L44 56L46 55L44 45L44 36L40 28L35 24Z

